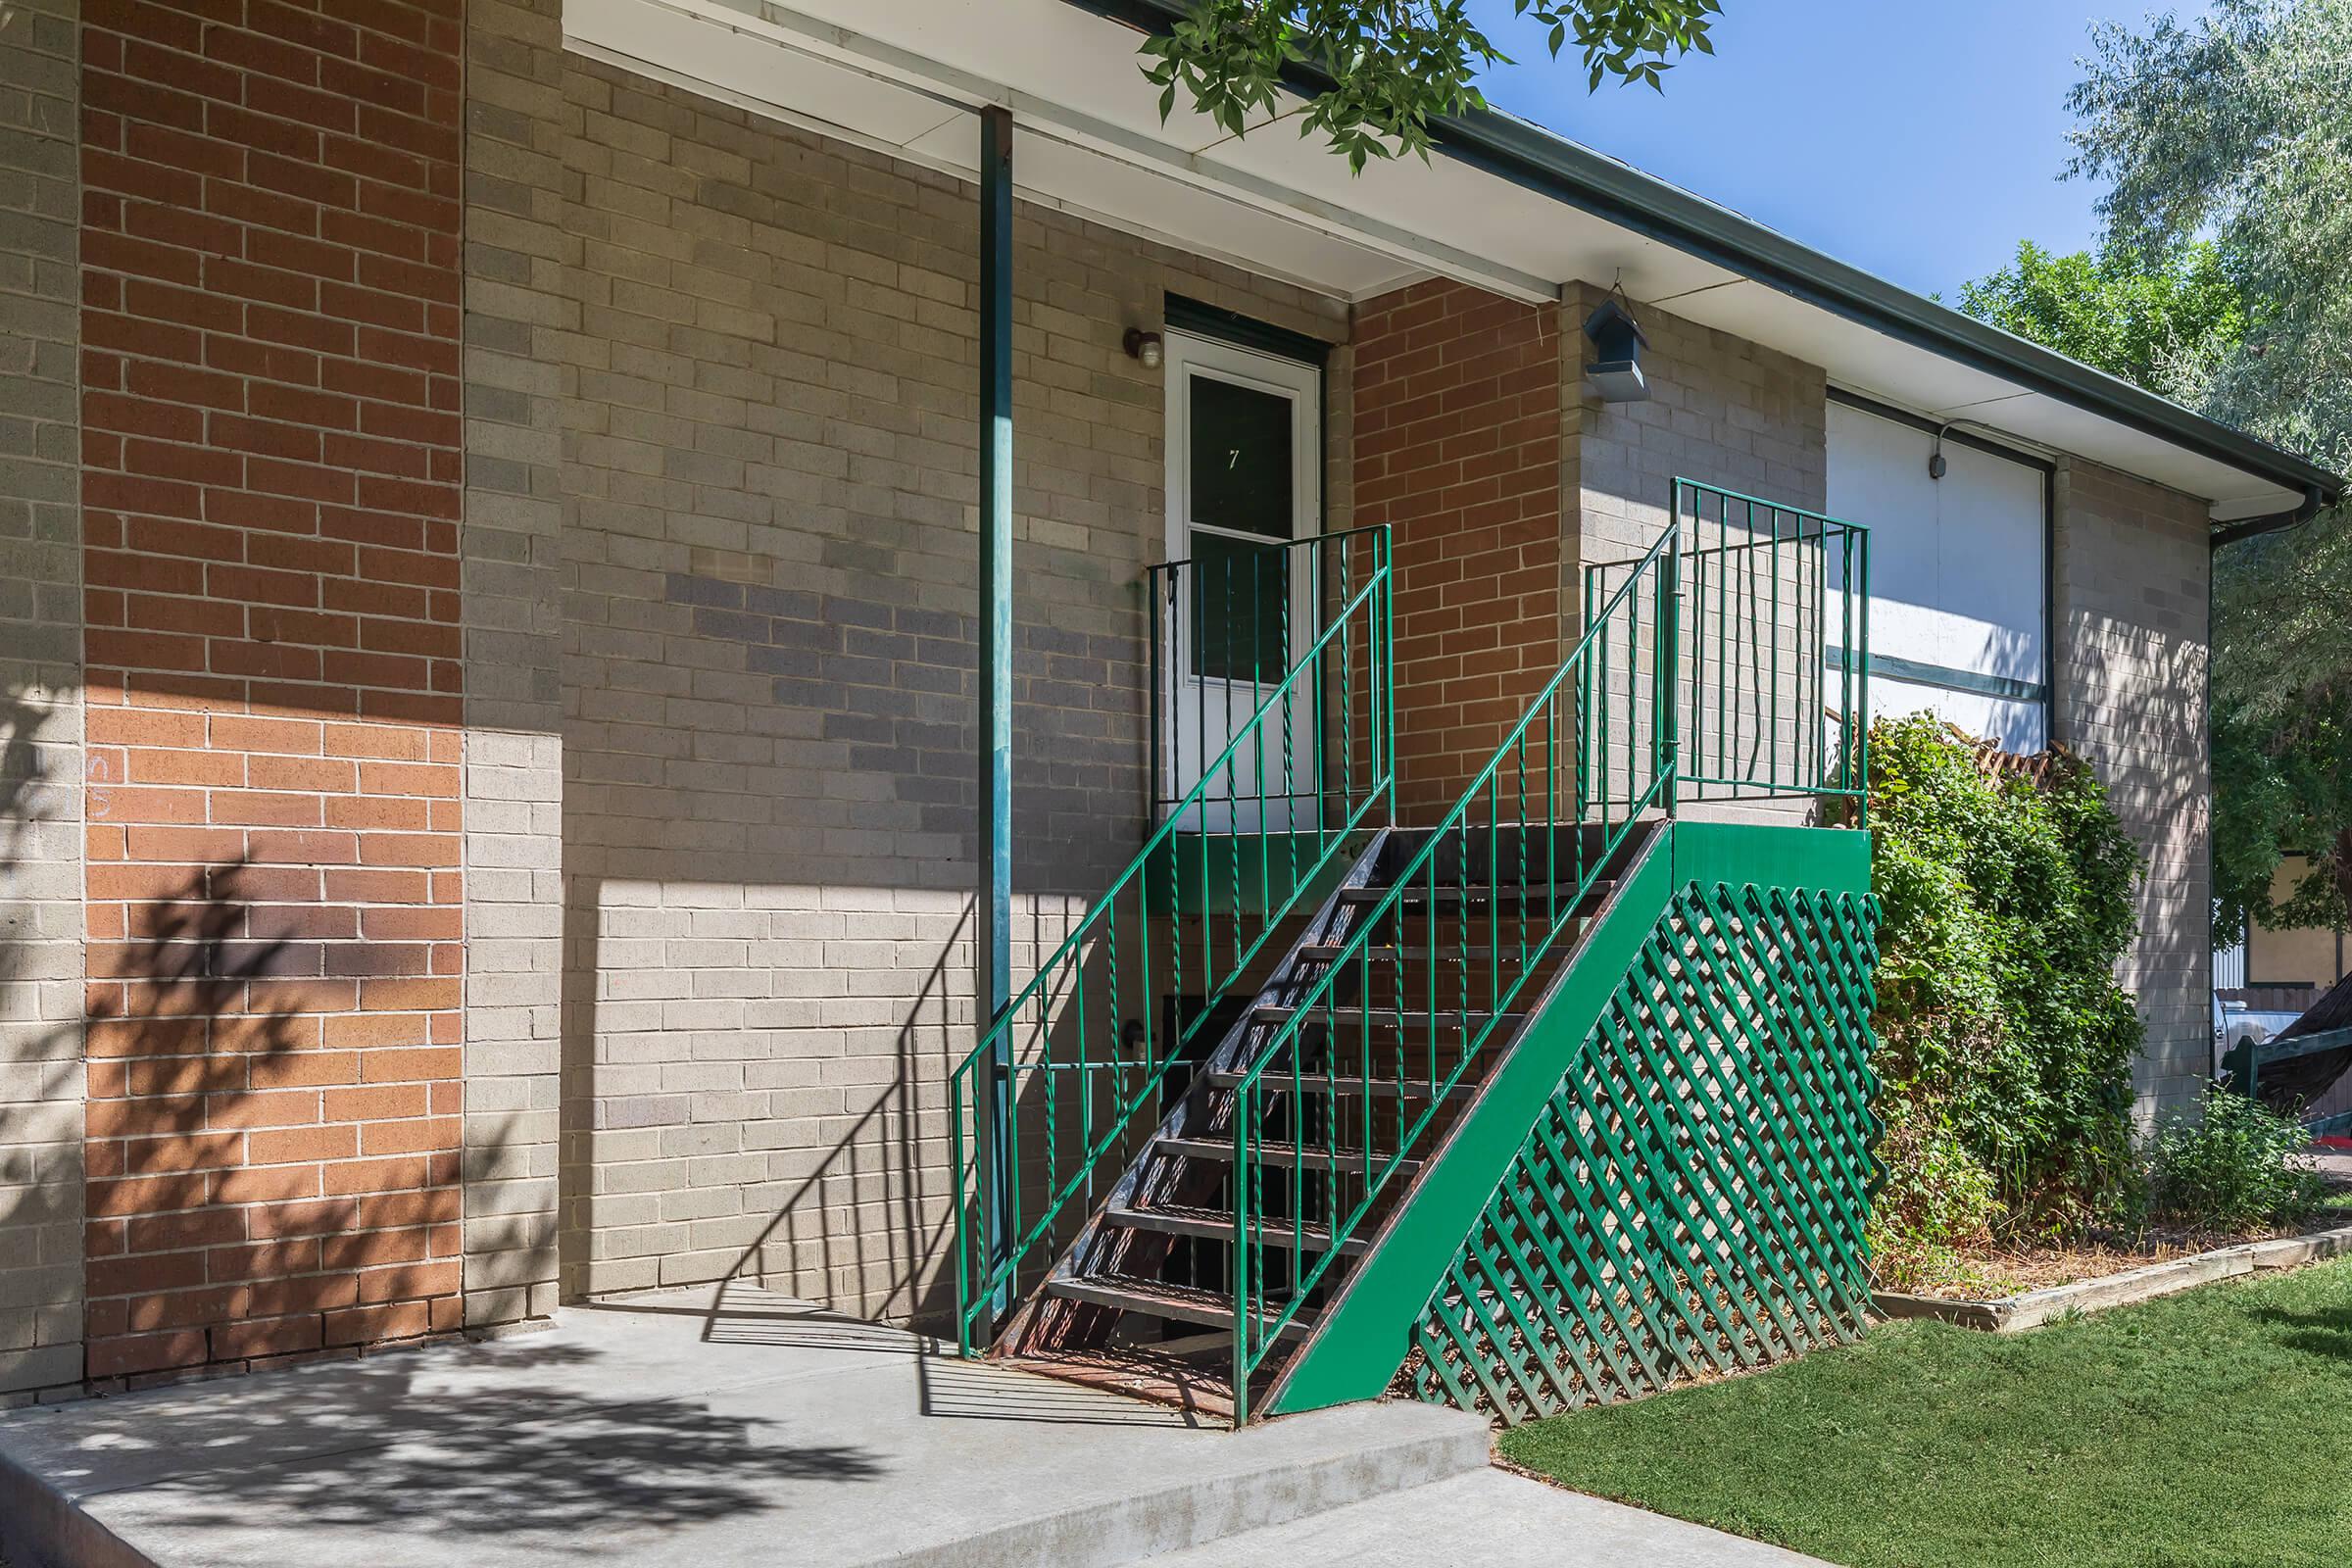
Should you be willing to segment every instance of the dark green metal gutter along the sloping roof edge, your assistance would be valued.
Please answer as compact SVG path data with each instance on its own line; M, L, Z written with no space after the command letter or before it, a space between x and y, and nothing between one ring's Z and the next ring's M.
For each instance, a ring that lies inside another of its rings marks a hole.
M1068 0L1084 12L1122 21L1136 31L1162 33L1183 19L1181 0ZM1312 94L1331 82L1312 66L1291 66L1284 80L1294 92ZM1590 212L1661 244L1712 261L1724 270L1752 277L1780 294L1799 299L1844 320L1924 348L1955 364L1969 364L2027 390L2089 409L2166 444L2194 451L2216 463L2260 475L2284 489L2300 489L2336 501L2345 491L2340 475L2307 463L2291 451L2260 442L2241 430L2192 414L2176 402L2145 393L2129 381L2096 371L2089 364L2051 353L2039 343L1987 327L1950 306L1922 299L1884 277L1823 256L1820 252L1773 233L1729 207L1691 195L1632 165L1604 158L1555 132L1494 110L1446 115L1432 125L1432 143L1458 162L1538 190L1562 205ZM2288 515L2277 515L2288 517ZM2249 522L2286 527L2277 517ZM2216 534L2244 538L2267 527L2232 524Z

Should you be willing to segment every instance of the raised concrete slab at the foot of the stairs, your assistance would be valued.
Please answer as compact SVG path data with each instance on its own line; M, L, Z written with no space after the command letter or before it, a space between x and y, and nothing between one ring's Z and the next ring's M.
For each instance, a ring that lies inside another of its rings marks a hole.
M1223 1552L1308 1516L1378 1535L1350 1505L1486 1476L1486 1453L1484 1422L1416 1403L1232 1434L729 1288L574 1307L553 1331L487 1345L12 1413L0 1556L14 1568L1110 1568L1183 1549L1207 1554L1178 1561L1277 1561ZM1545 1537L1548 1563L1583 1561L1562 1559L1545 1523L1559 1495L1515 1486L1534 1493L1522 1540Z

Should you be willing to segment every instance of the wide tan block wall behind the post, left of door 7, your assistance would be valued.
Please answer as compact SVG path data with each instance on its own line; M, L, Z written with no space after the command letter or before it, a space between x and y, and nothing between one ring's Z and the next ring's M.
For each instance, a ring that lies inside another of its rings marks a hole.
M560 376L562 1286L936 1316L976 197L581 59L553 113L564 266L508 299ZM1143 832L1162 371L1120 336L1171 289L1324 339L1345 308L1033 207L1014 273L1018 980ZM1329 381L1343 480L1345 353Z

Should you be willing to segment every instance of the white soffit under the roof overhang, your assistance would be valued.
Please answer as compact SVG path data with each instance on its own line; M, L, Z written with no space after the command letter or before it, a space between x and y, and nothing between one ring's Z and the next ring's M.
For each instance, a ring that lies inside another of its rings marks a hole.
M1183 101L1162 125L1138 35L1068 0L564 0L564 35L588 54L967 176L978 150L971 110L1009 106L1025 197L1338 299L1432 273L1522 301L1557 299L1573 280L1621 280L1637 303L1820 364L1842 388L2169 484L2211 501L2218 520L2300 501L1446 155L1350 176L1322 139L1287 125L1237 139Z

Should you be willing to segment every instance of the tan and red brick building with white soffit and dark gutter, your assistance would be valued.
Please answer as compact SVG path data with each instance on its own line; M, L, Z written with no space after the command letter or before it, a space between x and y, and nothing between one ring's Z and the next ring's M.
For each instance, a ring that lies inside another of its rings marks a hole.
M870 33L12 7L0 1399L736 1276L943 1316L990 103L1016 978L1155 825L1143 576L1247 430L1282 538L1392 529L1406 820L1677 475L1867 524L1832 651L2093 759L2152 867L2143 1105L2194 1093L2209 550L2331 475L1519 122L1359 181L1162 125L1157 0L804 9Z

